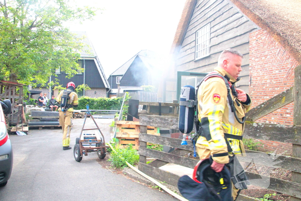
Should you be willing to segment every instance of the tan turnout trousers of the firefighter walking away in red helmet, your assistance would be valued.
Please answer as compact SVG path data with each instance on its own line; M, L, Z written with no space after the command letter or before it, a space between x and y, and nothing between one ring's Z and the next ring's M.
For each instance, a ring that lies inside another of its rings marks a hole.
M63 130L63 146L69 146L70 144L70 131L72 125L73 111L59 111L60 125Z

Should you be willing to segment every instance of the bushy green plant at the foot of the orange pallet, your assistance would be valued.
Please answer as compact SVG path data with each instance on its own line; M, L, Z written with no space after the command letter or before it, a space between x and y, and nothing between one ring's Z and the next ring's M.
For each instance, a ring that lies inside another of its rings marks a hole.
M137 150L133 149L132 144L129 144L129 147L126 149L121 149L116 147L116 152L111 152L111 157L108 161L111 161L112 165L116 168L125 168L127 167L126 161L134 165L139 160L139 155L137 154Z

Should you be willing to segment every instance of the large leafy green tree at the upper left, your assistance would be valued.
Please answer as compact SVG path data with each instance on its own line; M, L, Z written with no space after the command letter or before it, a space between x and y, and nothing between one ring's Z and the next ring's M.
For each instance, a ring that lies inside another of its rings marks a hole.
M63 23L92 19L95 11L69 0L0 0L0 80L45 86L56 69L69 78L82 71L82 38Z

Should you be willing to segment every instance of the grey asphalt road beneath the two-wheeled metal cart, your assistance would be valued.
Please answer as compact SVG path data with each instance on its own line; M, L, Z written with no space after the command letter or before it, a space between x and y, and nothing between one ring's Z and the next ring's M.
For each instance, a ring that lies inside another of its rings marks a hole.
M107 142L112 120L95 120ZM82 123L83 119L73 119L70 150L62 149L61 129L29 130L26 136L10 135L14 165L8 184L0 187L0 200L178 200L103 168L96 161L96 153L88 153L81 162L76 162L73 146ZM87 120L85 127L94 127L92 119Z

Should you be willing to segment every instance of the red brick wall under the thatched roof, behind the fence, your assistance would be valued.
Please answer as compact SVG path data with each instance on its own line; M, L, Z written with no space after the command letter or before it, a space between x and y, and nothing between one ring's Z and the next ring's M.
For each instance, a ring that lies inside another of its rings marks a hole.
M299 65L265 30L250 33L250 86L252 107L289 89L294 82L294 69ZM293 124L293 102L256 120L270 124ZM257 140L261 151L292 152L292 144Z

